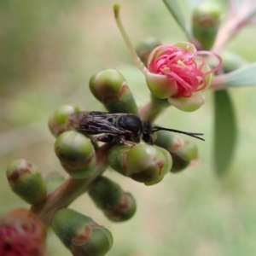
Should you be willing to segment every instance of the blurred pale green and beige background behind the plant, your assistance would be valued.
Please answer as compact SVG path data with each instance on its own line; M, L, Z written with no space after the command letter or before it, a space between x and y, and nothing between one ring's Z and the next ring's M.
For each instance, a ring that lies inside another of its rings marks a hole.
M199 1L180 1L189 11ZM0 2L0 213L28 207L9 189L5 169L24 158L44 175L64 172L55 157L54 137L47 119L61 103L73 101L84 110L102 110L90 95L90 76L117 68L136 96L148 101L143 75L131 61L113 19L113 0L3 0ZM119 0L121 17L131 40L159 38L165 44L184 41L160 0ZM225 3L221 1L221 3ZM224 8L226 4L224 4ZM228 49L256 61L256 27L247 26ZM200 160L184 172L170 174L153 186L132 182L115 172L108 177L137 199L137 214L113 224L83 195L71 206L105 225L113 233L113 256L220 256L256 253L256 101L255 89L233 89L239 137L234 161L225 177L212 168L212 92L195 113L170 108L158 124L183 131L203 132L195 141ZM71 255L53 233L49 255Z

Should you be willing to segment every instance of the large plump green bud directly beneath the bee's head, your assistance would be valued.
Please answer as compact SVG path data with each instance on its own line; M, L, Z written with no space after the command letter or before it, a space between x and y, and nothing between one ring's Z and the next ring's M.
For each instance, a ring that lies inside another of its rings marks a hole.
M163 148L148 144L134 147L115 146L108 154L108 164L113 170L144 183L159 183L172 167L172 157Z

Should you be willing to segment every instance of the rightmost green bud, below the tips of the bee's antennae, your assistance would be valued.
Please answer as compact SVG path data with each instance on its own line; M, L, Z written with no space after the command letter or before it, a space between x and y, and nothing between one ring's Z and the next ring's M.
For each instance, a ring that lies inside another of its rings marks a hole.
M172 151L172 169L171 172L180 172L185 169L191 161L198 158L198 150L195 143L185 140L183 144Z

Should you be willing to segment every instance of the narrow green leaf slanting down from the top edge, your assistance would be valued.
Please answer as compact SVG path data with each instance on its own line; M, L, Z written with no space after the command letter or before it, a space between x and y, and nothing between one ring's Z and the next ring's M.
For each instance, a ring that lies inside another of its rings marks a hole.
M163 0L167 9L172 14L173 18L177 21L177 24L183 29L183 32L191 39L191 32L189 30L189 23L185 20L183 11L177 0Z

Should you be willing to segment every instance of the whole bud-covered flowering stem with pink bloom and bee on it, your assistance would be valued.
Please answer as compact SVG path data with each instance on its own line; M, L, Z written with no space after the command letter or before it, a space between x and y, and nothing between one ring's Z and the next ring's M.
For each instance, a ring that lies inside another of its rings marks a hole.
M118 5L114 6L114 15L137 67L145 75L151 99L138 109L123 75L107 69L93 75L89 87L108 113L81 112L75 103L67 102L50 115L48 125L56 138L55 154L69 177L52 173L44 178L38 167L26 160L9 164L11 189L32 208L9 212L0 219L1 255L45 255L44 224L52 225L73 255L105 255L113 245L111 233L68 205L88 192L109 220L128 220L136 212L136 201L118 183L102 176L108 166L149 186L198 159L194 143L174 136L170 129L154 130L158 126L151 123L171 105L188 112L200 108L204 102L201 92L209 87L212 73L221 66L220 57L197 51L191 43L166 46L154 40L146 47L141 44L136 52L119 20ZM202 55L215 56L218 65L211 69ZM127 119L122 121L127 115L131 115L128 123Z

